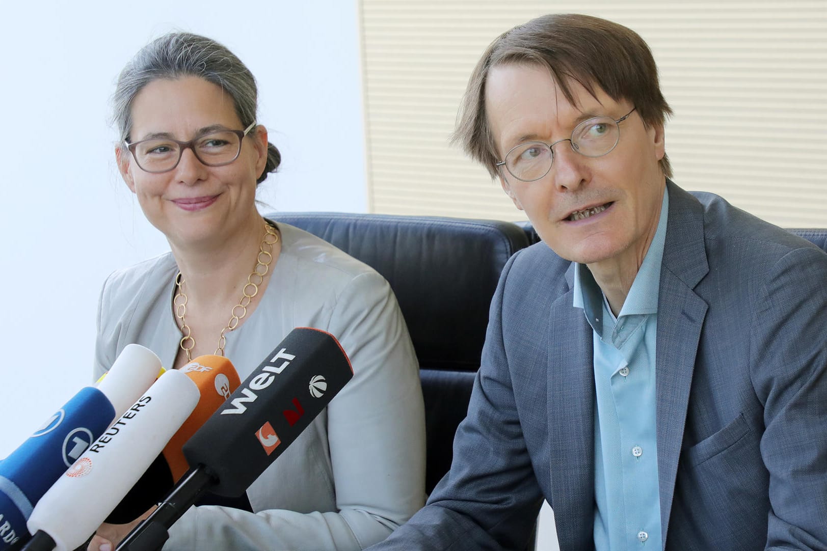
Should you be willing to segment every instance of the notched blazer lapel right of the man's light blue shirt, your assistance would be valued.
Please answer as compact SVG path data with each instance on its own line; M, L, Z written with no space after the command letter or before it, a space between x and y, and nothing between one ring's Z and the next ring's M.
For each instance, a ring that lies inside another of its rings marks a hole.
M667 181L669 218L657 300L655 358L657 475L664 548L681 455L692 372L707 304L694 288L709 272L703 208L689 193Z

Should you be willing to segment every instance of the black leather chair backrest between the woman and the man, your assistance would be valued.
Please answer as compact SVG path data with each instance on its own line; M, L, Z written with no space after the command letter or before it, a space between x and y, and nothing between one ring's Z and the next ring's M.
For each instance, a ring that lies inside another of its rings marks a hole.
M426 489L451 467L457 425L465 418L505 263L528 246L503 221L434 216L279 212L297 226L382 274L408 324L420 368L427 431Z

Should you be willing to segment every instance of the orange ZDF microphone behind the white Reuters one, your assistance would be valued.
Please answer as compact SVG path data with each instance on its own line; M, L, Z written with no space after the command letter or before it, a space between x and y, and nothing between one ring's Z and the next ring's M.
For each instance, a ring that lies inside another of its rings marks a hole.
M178 432L170 438L164 451L155 458L135 486L110 513L106 522L131 522L143 515L151 506L157 505L161 498L170 492L174 483L189 469L182 450L184 443L241 384L236 369L232 367L230 360L223 356L198 356L179 371L198 385L198 406L195 406L184 425L181 425Z

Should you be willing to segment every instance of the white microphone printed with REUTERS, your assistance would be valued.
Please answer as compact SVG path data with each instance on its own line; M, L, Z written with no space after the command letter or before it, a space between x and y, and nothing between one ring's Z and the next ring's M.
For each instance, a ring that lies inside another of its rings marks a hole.
M163 373L41 497L26 523L35 535L23 549L69 551L83 544L164 449L198 397L186 374Z

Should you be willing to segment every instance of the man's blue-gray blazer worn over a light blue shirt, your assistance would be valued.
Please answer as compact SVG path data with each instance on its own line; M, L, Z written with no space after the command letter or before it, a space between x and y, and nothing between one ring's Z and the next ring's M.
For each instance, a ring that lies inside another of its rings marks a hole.
M657 312L664 549L827 549L827 254L669 182ZM375 549L524 549L545 498L593 549L592 331L573 265L504 268L450 473Z

